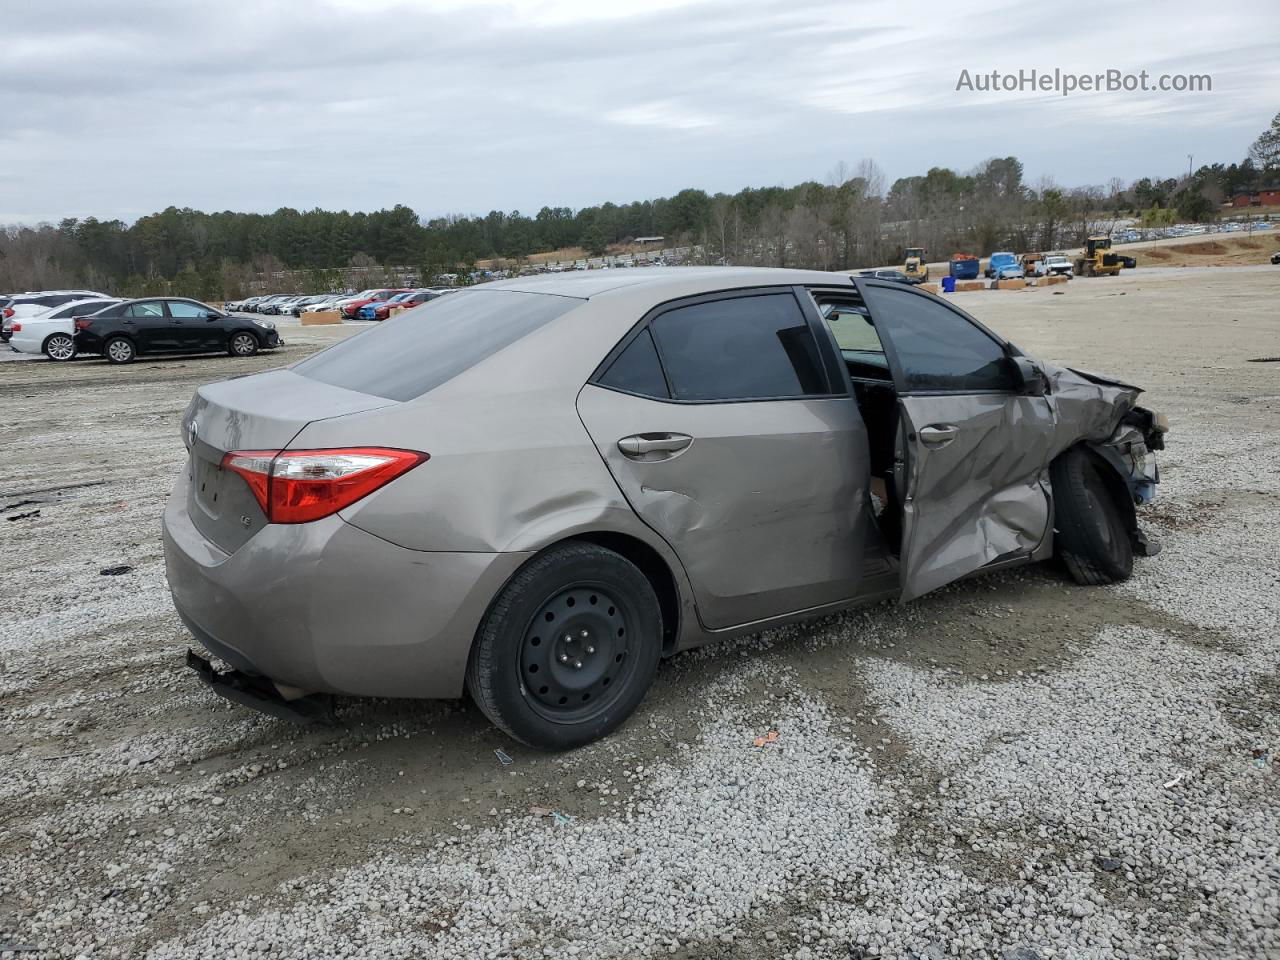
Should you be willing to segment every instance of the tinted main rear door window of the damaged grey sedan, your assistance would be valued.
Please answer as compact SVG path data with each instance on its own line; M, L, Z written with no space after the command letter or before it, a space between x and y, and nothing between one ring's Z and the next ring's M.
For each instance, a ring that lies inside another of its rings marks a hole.
M790 291L676 307L650 329L676 399L829 394L818 343Z

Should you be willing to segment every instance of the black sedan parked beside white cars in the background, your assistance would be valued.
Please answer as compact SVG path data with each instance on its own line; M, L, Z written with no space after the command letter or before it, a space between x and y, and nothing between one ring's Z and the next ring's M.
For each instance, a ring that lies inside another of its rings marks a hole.
M284 342L275 324L224 314L177 297L127 300L76 321L76 349L129 364L140 353L212 353L251 357Z

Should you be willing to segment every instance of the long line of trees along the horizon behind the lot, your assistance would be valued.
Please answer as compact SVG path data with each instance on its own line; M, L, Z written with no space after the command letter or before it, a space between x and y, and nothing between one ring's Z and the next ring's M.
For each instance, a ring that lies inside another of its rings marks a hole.
M335 289L470 274L476 264L520 266L534 253L599 256L636 237L663 236L703 262L847 270L899 262L906 246L952 251L1052 250L1080 242L1106 220L1208 220L1234 193L1280 179L1280 114L1238 163L1202 165L1180 178L1065 188L1024 182L1021 163L993 157L968 173L936 166L886 184L864 160L823 182L748 187L733 195L684 189L671 197L544 206L529 215L422 219L411 207L348 212L202 212L168 207L132 224L69 218L0 228L0 291L88 287L129 296L207 300L264 288Z

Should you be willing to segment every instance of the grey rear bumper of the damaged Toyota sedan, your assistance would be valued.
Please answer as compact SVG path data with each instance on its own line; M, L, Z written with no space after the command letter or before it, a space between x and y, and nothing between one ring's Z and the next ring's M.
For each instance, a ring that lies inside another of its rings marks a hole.
M408 550L338 516L269 525L223 553L164 515L165 570L191 632L236 669L305 691L454 698L490 600L527 553Z

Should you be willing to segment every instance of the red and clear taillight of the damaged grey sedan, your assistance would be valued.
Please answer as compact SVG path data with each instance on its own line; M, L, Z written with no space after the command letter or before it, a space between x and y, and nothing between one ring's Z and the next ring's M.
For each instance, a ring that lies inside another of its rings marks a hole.
M349 507L426 461L387 447L232 451L223 466L244 477L270 524L310 524Z

